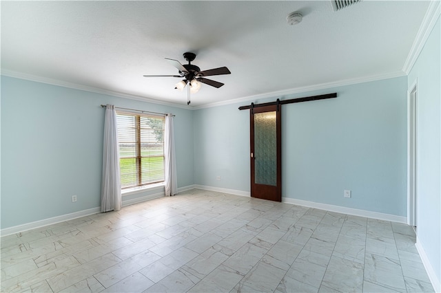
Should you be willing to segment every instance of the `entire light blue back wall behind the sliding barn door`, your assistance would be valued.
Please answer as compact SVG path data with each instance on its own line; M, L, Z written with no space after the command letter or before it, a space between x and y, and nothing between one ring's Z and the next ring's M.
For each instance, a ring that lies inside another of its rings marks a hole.
M282 196L405 217L405 76L254 102L332 92L338 98L282 107ZM249 111L239 111L242 105L249 102L194 114L196 184L249 192Z

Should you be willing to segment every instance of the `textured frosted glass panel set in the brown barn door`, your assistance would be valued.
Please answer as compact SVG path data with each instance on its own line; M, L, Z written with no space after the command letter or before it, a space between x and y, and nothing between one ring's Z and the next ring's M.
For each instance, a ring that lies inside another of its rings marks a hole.
M277 185L276 111L254 113L254 182Z

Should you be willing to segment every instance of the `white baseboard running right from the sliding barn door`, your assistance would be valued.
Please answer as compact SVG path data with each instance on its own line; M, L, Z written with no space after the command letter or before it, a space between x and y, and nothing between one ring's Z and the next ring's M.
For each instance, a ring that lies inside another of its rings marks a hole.
M370 210L358 210L356 208L345 208L344 206L334 206L332 204L320 204L318 202L308 202L307 200L293 199L289 197L282 197L282 202L286 202L287 204L296 204L298 206L306 206L308 208L329 210L330 212L342 213L347 215L367 217L372 219L381 219L384 221L395 221L398 223L407 224L407 217L371 212Z

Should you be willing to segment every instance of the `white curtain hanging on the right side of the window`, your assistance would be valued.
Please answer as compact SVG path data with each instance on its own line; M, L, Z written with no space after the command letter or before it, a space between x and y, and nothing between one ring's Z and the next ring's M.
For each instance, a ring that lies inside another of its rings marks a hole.
M178 183L176 179L176 158L174 155L173 115L171 113L165 116L164 155L165 196L171 196L178 193Z

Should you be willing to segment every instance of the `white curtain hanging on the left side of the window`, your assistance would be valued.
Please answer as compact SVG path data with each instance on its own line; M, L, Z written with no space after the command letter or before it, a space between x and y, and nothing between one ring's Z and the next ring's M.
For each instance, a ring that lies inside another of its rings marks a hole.
M106 105L103 141L103 178L101 212L121 210L121 177L119 171L118 127L114 105Z

